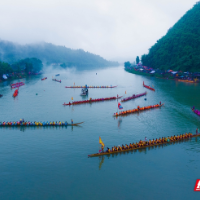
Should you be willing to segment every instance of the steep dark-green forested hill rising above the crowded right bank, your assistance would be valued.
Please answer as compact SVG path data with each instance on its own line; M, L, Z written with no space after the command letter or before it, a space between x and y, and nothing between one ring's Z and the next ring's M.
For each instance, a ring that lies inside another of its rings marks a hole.
M152 68L200 71L200 2L187 11L147 55L142 55L141 61Z

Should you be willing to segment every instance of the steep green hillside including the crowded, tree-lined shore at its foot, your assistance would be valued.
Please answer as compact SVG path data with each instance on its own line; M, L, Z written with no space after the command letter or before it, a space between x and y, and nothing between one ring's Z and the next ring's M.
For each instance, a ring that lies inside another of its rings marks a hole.
M139 75L181 82L200 81L200 1L188 10L166 35L149 48L136 63L124 63L125 70ZM141 64L141 63L142 64Z

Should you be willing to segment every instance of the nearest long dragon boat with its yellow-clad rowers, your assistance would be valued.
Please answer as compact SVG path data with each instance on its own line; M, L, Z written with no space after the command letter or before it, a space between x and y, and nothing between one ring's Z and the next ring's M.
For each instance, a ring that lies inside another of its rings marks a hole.
M100 152L100 153L95 153L88 155L88 157L96 157L96 156L103 156L103 155L110 155L110 154L116 154L116 153L121 153L121 152L127 152L127 151L132 151L132 150L137 150L137 149L143 149L143 148L148 148L148 147L154 147L154 146L159 146L159 145L165 145L169 143L176 143L179 141L187 140L189 138L193 137L198 137L200 136L200 133L197 133L193 135L192 133L186 133L182 135L177 135L177 136L171 136L171 137L162 137L158 140L150 140L150 141L139 141L138 143L130 143L130 145L125 145L125 146L114 146L111 148L111 150L108 148L106 152Z

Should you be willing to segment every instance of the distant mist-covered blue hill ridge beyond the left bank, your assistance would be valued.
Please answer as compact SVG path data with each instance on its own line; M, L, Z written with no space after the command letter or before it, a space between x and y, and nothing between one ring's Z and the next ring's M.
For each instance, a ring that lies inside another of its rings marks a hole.
M61 64L62 67L77 67L78 69L94 69L106 66L116 66L117 62L107 61L99 55L73 50L65 46L51 43L19 45L0 40L0 61L15 63L21 59L35 57L44 64Z

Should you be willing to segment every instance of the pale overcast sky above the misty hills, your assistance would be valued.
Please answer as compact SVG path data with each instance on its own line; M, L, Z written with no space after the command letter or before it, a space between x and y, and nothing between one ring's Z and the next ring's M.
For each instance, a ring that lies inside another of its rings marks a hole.
M1 0L0 39L50 42L134 61L197 0Z

